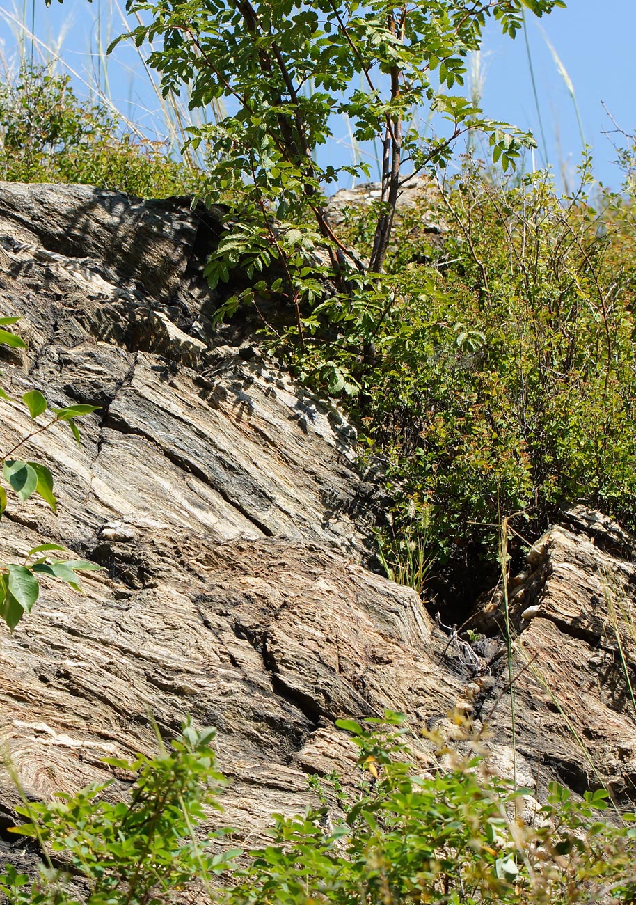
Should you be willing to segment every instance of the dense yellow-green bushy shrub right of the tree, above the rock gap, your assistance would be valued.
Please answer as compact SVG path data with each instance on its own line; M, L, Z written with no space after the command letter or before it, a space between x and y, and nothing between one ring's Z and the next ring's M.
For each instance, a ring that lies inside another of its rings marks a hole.
M546 173L466 161L403 214L384 281L304 321L299 373L342 395L387 463L384 559L421 562L424 538L447 601L463 576L470 603L490 580L503 517L528 542L574 503L636 529L633 213L624 195L596 209L592 188L587 159L566 197ZM358 254L372 233L350 212Z

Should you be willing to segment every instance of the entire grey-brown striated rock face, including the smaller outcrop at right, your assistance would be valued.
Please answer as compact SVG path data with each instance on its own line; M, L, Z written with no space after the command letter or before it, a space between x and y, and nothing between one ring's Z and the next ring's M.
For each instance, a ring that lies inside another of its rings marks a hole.
M0 722L24 790L103 781L101 757L154 751L153 719L170 735L185 714L219 731L223 821L241 834L308 803L306 774L353 775L341 716L403 710L432 763L420 731L451 733L459 708L488 722L492 763L509 772L501 590L471 617L484 637L470 644L366 567L382 500L355 431L244 328L210 328L201 265L217 214L0 184L1 313L29 341L5 387L101 406L81 450L62 426L30 442L60 514L29 500L0 521L0 561L52 540L105 567L84 595L45 587L0 631ZM5 451L28 424L0 405ZM509 582L517 778L537 797L555 778L634 797L632 554L618 526L574 510ZM5 770L5 846L16 801Z

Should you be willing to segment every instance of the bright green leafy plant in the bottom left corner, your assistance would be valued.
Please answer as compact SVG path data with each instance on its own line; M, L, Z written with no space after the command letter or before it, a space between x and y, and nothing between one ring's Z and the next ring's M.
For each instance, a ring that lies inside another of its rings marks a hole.
M213 740L214 729L197 732L186 721L181 736L159 757L106 761L134 776L127 801L109 800L109 783L78 795L59 793L51 804L17 808L29 822L16 832L51 853L64 853L70 871L89 882L89 894L82 897L86 905L160 905L174 901L179 891L200 896L239 853L211 850L223 831L203 843L194 834L208 809L218 807L222 776L214 767ZM33 882L9 868L0 877L0 891L15 905L75 905L70 879L43 867Z

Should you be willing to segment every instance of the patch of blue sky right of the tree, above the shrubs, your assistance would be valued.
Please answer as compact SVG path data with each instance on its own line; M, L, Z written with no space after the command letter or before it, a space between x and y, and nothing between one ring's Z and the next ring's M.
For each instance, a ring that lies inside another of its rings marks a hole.
M570 0L567 9L556 9L542 19L529 15L527 25L550 163L557 172L564 163L572 171L580 156L581 137L574 104L546 37L573 83L584 137L593 146L595 174L618 187L620 173L612 165L615 152L603 135L614 127L603 102L621 129L636 131L636 0ZM489 29L482 64L483 103L489 116L531 129L541 145L523 36L511 42Z

